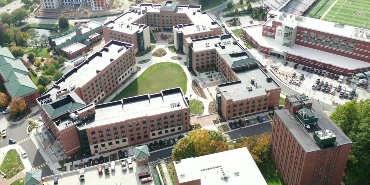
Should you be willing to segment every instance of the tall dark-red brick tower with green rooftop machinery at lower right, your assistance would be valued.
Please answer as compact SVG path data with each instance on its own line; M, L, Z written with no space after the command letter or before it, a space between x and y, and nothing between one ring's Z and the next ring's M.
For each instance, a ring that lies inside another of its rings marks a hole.
M272 125L270 157L277 172L285 184L340 184L351 140L306 95L287 96L286 102Z

